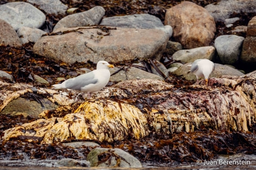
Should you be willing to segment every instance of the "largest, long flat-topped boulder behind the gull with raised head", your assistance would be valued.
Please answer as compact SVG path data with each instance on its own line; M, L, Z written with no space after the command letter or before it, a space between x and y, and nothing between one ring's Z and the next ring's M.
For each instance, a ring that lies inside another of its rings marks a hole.
M74 62L119 62L124 60L160 60L169 39L158 29L114 28L109 33L100 28L59 28L56 32L76 30L60 35L43 36L36 41L33 51L47 58ZM100 35L99 35L100 34Z

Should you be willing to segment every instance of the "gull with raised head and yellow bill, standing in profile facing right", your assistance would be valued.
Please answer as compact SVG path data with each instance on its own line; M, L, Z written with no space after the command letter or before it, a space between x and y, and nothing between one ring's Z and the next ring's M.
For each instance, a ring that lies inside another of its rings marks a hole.
M99 61L97 62L96 70L63 81L62 84L54 84L53 89L72 89L81 92L88 92L88 96L90 98L90 93L99 91L107 85L110 78L108 68L113 67L114 66L108 64L107 61Z

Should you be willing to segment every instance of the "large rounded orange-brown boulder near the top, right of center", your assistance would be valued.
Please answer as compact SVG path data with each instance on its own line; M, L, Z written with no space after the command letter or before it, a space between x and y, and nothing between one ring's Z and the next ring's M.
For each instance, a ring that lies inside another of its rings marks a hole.
M216 32L209 12L186 1L167 10L164 24L172 26L175 41L185 49L209 46Z

